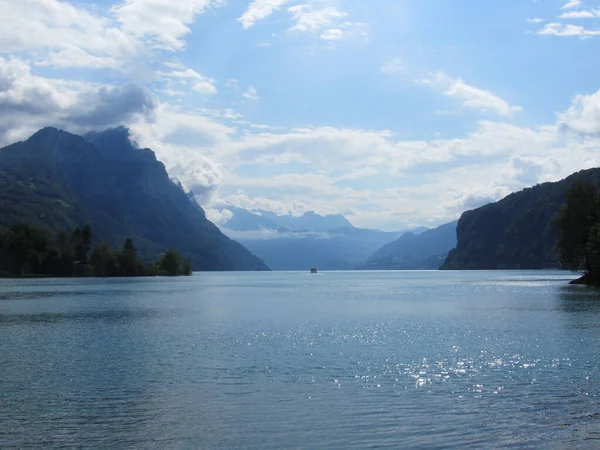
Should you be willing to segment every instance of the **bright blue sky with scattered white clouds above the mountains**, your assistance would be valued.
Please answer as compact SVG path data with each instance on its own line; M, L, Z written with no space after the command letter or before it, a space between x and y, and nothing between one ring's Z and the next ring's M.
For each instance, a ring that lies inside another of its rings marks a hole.
M600 166L588 0L0 0L0 144L125 125L223 205L434 226Z

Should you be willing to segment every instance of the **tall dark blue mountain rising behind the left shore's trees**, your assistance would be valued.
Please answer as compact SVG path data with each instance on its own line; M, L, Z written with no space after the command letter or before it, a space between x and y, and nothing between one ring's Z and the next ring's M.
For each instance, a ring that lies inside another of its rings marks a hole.
M73 229L90 224L96 242L132 237L144 258L167 248L198 270L268 270L226 237L171 181L125 128L81 136L44 128L0 149L0 225Z

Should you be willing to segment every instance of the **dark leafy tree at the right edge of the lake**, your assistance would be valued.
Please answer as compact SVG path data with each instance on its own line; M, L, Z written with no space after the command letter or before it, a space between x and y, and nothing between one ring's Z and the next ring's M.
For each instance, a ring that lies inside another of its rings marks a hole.
M590 279L596 273L594 253L590 252L592 229L600 223L600 194L596 185L586 180L576 180L565 193L565 204L555 221L558 232L556 250L563 267L584 270Z

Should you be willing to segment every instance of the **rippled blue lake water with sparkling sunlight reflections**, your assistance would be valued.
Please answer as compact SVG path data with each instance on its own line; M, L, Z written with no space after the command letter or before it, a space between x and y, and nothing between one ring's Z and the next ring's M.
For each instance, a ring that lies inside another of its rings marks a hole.
M0 448L600 448L572 278L0 280Z

